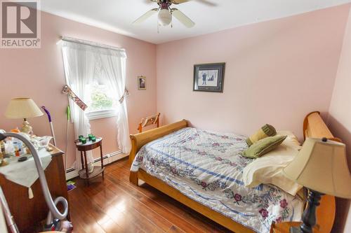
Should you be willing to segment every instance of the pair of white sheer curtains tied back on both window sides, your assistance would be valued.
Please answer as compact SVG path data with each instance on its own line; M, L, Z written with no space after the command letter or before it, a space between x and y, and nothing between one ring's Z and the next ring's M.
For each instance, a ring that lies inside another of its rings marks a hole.
M117 132L118 145L123 153L131 150L129 139L128 114L126 109L126 52L93 43L83 44L71 41L62 41L62 54L65 64L66 82L73 92L84 101L86 85L93 82L95 76L101 76L102 82L106 83L114 93L117 100ZM87 135L90 124L84 111L69 100L72 109L72 121L74 122L75 136ZM75 168L81 168L80 154L77 153ZM88 154L88 161L92 162L92 155Z

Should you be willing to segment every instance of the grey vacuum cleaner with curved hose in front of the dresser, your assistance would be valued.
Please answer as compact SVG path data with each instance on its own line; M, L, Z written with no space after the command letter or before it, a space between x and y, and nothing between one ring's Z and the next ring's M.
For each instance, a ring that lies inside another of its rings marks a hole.
M41 189L43 190L44 193L44 198L45 202L48 205L48 216L46 218L46 223L44 226L45 231L58 231L58 232L67 232L70 233L73 230L72 224L65 220L67 217L68 213L68 202L64 197L57 197L55 200L50 195L50 190L48 189L48 183L46 182L46 177L44 173L43 166L41 164L41 160L39 158L39 155L37 153L37 150L34 148L33 144L28 141L24 136L20 134L15 134L15 133L0 133L0 141L3 141L6 139L6 137L13 137L16 139L20 139L25 145L29 148L30 152L33 155L35 166L37 167L37 171L39 174L39 180L41 184ZM58 211L58 208L56 207L58 203L61 203L63 206L63 213L60 213ZM10 214L10 213L8 213ZM6 217L6 220L10 218L12 220L12 216ZM14 221L7 221L9 229L11 229L11 232L13 233L20 233L18 231L18 228L15 226Z

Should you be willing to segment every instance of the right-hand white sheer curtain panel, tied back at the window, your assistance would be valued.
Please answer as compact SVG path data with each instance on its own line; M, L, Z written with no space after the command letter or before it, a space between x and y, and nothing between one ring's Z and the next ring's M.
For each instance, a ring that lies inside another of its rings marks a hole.
M128 113L126 107L126 53L110 50L108 54L100 54L102 69L105 71L104 81L116 93L117 101L117 131L119 148L123 153L130 153Z

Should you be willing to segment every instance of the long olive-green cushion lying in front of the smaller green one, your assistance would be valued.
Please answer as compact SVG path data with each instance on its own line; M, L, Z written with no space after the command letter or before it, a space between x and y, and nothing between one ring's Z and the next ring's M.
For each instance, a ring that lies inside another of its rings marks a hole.
M265 139L261 139L260 141L256 142L255 144L241 152L241 155L250 158L261 157L265 153L268 153L271 150L277 148L285 139L286 136L282 135L269 136Z

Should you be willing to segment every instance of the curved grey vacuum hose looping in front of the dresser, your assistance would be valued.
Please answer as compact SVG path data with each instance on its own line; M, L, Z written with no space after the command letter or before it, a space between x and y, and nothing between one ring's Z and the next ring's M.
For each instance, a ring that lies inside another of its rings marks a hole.
M43 165L41 164L41 160L33 144L30 141L28 141L24 136L20 134L15 134L15 133L4 133L4 134L0 133L0 141L6 139L6 137L8 136L20 139L23 143L25 143L25 146L29 148L30 152L33 155L35 166L37 167L41 188L44 192L44 198L45 198L46 204L48 205L48 209L50 210L50 213L53 214L53 216L55 218L58 218L59 220L65 219L68 213L67 200L64 197L57 197L55 201L53 201L53 198L50 195L50 190L48 189L48 183L46 182ZM56 204L58 204L59 202L62 203L63 209L65 210L63 211L63 213L60 213L60 211L58 211L56 207ZM51 215L50 213L49 213L49 216Z

